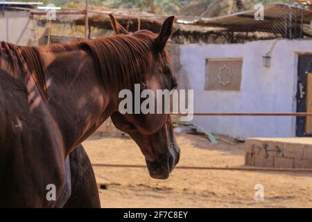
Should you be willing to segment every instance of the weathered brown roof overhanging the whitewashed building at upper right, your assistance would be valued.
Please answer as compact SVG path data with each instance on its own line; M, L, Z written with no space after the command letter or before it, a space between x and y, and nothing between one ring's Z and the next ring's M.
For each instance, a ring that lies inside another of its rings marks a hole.
M223 17L178 18L178 24L227 28L232 32L267 32L281 34L282 37L302 37L301 26L310 24L312 12L303 6L289 6L275 3L263 10L263 20L256 20L257 10L237 12Z

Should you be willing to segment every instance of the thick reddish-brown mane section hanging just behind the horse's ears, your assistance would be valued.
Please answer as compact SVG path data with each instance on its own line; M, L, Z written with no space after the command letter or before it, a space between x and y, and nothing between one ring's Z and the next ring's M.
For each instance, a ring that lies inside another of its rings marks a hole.
M135 83L144 82L144 72L151 71L148 69L158 60L155 37L150 31L138 31L85 40L80 48L92 52L104 87L118 98L121 89L133 89Z

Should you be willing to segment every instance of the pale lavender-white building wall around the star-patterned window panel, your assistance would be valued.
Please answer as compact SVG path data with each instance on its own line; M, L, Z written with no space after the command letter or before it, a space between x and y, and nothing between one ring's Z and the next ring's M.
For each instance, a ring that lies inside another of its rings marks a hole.
M296 112L298 53L312 53L312 40L278 40L266 68L262 56L272 42L180 45L182 70L194 89L194 112ZM243 58L241 90L206 91L206 58ZM295 117L194 117L193 122L238 139L295 136Z

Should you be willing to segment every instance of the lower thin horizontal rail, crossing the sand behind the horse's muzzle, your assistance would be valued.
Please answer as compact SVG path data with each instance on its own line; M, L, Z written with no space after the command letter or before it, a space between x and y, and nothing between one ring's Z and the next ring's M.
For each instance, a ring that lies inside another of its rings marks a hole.
M144 168L145 165L136 164L92 164L93 167L119 167L119 168ZM286 173L312 173L312 169L294 168L269 168L269 167L191 167L177 166L175 169L211 170L211 171L262 171L262 172L286 172Z

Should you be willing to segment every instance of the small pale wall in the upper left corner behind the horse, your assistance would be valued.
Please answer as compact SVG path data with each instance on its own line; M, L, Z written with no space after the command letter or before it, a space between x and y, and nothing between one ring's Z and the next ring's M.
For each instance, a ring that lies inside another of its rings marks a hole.
M19 45L36 44L36 22L30 12L4 10L0 12L0 41Z

